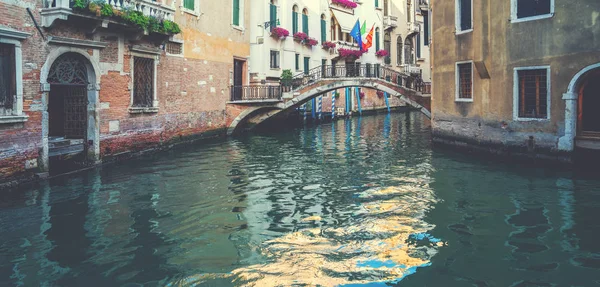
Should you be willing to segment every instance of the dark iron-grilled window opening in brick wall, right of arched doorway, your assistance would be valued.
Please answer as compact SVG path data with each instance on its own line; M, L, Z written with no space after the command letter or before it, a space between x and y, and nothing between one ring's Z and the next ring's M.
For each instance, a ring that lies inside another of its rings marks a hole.
M152 107L154 59L133 57L133 107Z

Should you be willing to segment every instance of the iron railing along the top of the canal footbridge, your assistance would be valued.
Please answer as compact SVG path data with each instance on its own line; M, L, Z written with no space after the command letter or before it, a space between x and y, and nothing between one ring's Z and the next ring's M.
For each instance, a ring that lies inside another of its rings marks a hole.
M430 93L430 83L425 83L420 74L395 71L379 64L332 66L323 65L283 81L277 86L231 86L231 101L280 100L283 93L293 92L322 79L372 78L421 93Z

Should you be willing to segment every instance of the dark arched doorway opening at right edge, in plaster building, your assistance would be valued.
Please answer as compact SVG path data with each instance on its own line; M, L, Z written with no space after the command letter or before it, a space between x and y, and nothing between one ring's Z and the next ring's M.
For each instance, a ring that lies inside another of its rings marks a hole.
M580 88L577 109L577 135L600 140L600 70L585 76Z

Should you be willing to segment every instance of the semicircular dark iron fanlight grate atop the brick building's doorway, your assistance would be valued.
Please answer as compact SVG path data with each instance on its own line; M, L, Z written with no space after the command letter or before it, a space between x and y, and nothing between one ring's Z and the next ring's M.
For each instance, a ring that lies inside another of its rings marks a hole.
M52 64L48 83L63 85L87 85L86 59L77 53L66 53Z

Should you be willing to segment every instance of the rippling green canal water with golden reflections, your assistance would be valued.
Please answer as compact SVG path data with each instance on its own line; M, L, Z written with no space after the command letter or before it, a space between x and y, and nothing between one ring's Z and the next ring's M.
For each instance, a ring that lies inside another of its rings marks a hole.
M0 192L0 286L595 286L600 179L431 147L419 113Z

